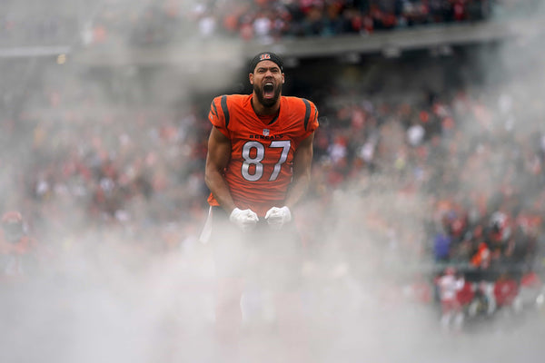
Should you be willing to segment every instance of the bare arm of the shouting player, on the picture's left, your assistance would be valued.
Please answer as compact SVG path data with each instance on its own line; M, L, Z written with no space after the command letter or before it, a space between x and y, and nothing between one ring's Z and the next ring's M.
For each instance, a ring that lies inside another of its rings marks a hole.
M212 191L213 197L227 214L236 208L229 187L223 178L223 171L231 158L231 141L215 126L208 138L208 153L204 169L204 182Z

